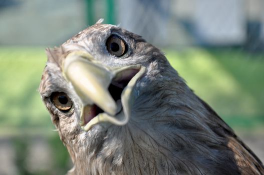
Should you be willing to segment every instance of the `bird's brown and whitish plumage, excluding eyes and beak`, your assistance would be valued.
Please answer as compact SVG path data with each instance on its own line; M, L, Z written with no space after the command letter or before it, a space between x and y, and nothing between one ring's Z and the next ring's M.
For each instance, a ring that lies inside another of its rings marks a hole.
M124 57L106 50L111 34L129 46ZM76 50L90 53L103 66L146 67L135 85L137 96L126 125L98 123L82 130L82 101L61 68L66 55ZM99 22L62 46L47 49L47 55L39 90L74 162L69 174L264 174L257 156L141 36ZM73 101L69 112L52 103L56 91Z

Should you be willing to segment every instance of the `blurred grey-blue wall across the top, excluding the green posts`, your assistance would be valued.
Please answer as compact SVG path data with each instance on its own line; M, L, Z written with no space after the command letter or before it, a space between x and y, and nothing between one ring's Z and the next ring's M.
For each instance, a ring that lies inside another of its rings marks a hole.
M87 27L85 0L10 1L15 5L0 7L0 44L59 45ZM257 26L264 26L263 3L263 0L116 0L115 16L116 24L157 46L245 42L250 45L264 42L264 27L260 27L259 36L248 38L247 33L247 21L258 21ZM94 0L93 9L95 21L107 18L105 0ZM254 30L254 23L252 26Z

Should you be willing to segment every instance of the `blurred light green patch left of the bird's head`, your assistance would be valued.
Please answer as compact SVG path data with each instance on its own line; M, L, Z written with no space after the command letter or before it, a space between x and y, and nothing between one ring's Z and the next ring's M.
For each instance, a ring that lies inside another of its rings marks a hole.
M0 47L1 130L52 128L37 91L45 62L45 48Z

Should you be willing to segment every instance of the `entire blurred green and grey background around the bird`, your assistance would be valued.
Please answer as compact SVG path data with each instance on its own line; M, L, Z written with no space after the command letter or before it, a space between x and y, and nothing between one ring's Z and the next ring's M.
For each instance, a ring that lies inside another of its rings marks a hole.
M0 0L0 174L71 168L37 89L45 48L99 18L160 47L263 161L263 7L264 0Z

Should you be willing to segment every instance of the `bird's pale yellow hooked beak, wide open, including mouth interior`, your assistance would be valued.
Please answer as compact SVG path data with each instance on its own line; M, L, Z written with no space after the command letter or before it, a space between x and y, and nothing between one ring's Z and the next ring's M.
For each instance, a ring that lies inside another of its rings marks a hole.
M133 88L145 69L140 64L105 66L83 51L68 54L63 62L63 75L82 100L82 128L87 131L102 121L126 124L136 96Z

